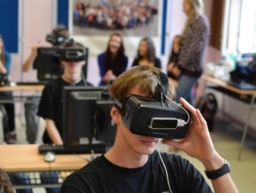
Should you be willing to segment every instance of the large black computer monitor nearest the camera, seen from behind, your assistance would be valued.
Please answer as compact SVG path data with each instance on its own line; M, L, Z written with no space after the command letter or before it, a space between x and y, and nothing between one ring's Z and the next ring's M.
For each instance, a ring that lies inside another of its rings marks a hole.
M106 142L114 141L115 128L110 116L113 100L104 98L106 89L106 86L64 87L64 148L75 150L79 147L83 152L88 149L88 153L91 150L102 153Z

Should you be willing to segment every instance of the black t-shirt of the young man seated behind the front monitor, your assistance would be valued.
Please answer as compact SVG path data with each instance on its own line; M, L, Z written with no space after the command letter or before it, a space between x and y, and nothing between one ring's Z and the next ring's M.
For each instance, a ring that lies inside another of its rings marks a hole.
M84 81L81 80L76 86L84 86ZM92 85L88 83L88 85ZM70 83L65 82L62 78L51 80L42 93L41 101L37 115L42 118L48 118L55 121L56 127L60 136L62 137L62 125L63 125L63 88L64 86L70 86ZM50 139L47 131L43 134L44 143L53 143Z

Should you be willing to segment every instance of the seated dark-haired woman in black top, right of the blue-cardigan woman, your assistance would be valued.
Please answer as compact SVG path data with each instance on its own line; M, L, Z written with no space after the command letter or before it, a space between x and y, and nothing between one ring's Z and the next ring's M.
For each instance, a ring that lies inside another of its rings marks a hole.
M138 66L143 64L155 66L161 69L161 61L159 58L156 57L153 41L149 37L141 40L137 57L133 61L132 66Z

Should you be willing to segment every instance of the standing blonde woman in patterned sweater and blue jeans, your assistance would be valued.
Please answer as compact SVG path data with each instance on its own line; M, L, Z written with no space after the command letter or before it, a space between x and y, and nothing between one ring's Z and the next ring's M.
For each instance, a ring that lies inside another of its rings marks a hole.
M180 37L180 51L177 64L172 69L178 77L176 102L183 97L193 104L193 86L200 78L205 62L205 53L209 43L210 24L203 15L203 0L184 0L183 11L188 16L186 26Z

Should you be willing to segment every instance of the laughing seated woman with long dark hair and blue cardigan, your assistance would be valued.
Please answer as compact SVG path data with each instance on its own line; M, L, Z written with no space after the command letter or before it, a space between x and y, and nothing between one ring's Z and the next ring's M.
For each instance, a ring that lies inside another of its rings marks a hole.
M122 36L114 33L110 36L106 52L98 55L98 65L102 80L99 85L106 85L126 71L128 58L124 54Z

